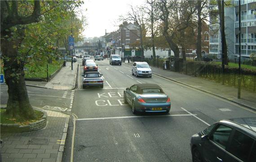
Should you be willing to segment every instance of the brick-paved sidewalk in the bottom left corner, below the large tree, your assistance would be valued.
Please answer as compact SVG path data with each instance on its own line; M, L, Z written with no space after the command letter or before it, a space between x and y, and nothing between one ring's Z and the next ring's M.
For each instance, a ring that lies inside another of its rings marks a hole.
M44 111L48 115L45 128L1 134L2 162L61 162L69 115Z

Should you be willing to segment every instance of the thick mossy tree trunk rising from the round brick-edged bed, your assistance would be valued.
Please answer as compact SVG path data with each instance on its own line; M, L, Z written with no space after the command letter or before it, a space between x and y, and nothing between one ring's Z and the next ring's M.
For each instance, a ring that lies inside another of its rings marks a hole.
M19 30L21 35L23 30ZM2 32L4 35L11 36L11 31ZM15 40L1 40L1 50L4 58L4 78L8 85L8 101L6 113L21 119L34 119L35 114L30 105L26 84L24 80L24 61L21 61L18 53L18 46L22 42L23 36Z

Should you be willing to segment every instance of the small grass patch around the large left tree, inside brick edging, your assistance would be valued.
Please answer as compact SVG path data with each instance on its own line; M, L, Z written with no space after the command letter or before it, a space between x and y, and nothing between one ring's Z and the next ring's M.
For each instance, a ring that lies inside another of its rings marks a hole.
M6 114L6 109L1 108L0 109L0 123L1 124L19 124L19 125L26 125L29 123L36 122L40 120L44 113L38 110L34 110L36 118L34 120L21 120L20 118L13 118L10 115Z

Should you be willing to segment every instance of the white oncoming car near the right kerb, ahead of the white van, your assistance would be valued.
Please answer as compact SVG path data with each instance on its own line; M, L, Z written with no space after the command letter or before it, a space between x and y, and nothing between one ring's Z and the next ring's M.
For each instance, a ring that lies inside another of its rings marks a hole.
M147 62L134 62L132 65L132 75L152 77L151 67Z

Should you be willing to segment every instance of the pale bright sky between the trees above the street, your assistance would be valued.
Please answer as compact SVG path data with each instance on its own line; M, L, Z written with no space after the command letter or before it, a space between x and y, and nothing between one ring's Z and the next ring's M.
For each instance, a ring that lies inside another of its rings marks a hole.
M87 19L84 26L84 37L99 37L118 29L121 22L119 16L125 16L130 10L129 5L144 4L145 0L84 0L81 6Z

